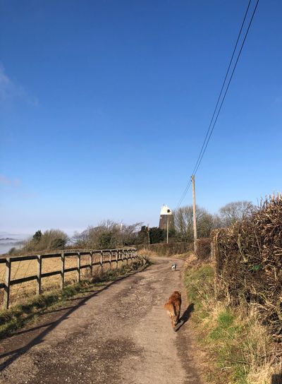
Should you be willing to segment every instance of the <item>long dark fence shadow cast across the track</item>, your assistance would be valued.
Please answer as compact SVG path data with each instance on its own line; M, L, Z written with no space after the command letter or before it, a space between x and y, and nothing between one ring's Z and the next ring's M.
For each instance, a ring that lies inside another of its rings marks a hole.
M120 282L121 280L124 280L126 277L133 276L139 272L143 272L143 270L144 270L144 268L142 270L136 270L135 272L128 273L127 275L118 277L117 280L115 280L114 282L110 282L108 285L106 285L106 287L99 289L99 291L95 291L93 294L90 294L89 296L87 296L83 299L78 299L78 300L80 300L78 302L78 304L75 304L72 307L61 308L61 310L65 309L68 311L66 311L66 313L64 313L59 319L57 319L51 323L39 325L35 328L30 328L28 330L20 331L21 333L24 333L24 332L26 333L26 332L31 332L32 330L38 330L39 328L47 327L38 336L36 336L34 339L32 339L30 342L28 342L24 347L20 347L18 349L14 349L13 351L6 352L4 354L0 354L0 359L3 359L4 357L11 355L11 357L9 357L6 361L4 361L4 363L0 364L0 371L3 371L7 366L12 364L13 361L18 359L18 357L20 357L20 355L25 354L25 352L27 352L30 348L34 347L36 344L42 343L44 341L43 340L44 337L46 335L48 335L49 332L54 330L54 328L56 328L56 326L59 325L63 320L66 320L66 318L68 318L71 315L71 313L75 312L78 308L80 308L80 306L84 306L88 300L92 299L92 297L97 296L100 292L106 291L106 289L109 289L109 287L111 287L111 285L116 284L117 282ZM49 312L49 313L51 313L51 312ZM20 332L18 332L18 334L20 334ZM16 336L16 334L15 334L15 336ZM13 337L13 335L11 337Z

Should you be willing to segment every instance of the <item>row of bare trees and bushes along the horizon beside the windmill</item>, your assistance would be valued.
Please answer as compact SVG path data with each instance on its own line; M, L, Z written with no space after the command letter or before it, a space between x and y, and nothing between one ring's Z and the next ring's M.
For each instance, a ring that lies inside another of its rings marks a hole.
M212 215L206 209L196 208L197 237L209 237L213 229L229 227L238 220L250 215L254 205L250 201L235 201L228 203ZM173 212L174 227L169 231L169 241L193 241L193 212L192 205L178 208ZM164 242L166 231L159 227L148 228L142 222L123 224L112 220L100 222L96 227L90 226L85 231L76 232L71 238L59 229L49 229L45 232L38 230L23 246L11 248L9 254L49 251L64 248L116 248L142 244L157 244Z

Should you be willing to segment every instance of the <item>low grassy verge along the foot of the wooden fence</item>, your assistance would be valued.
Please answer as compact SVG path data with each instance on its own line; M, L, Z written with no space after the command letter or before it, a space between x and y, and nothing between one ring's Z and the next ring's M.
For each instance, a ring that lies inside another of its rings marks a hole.
M143 264L144 262L140 260L115 270L107 270L90 280L68 285L62 291L54 290L47 294L34 296L32 299L25 301L24 304L18 304L6 311L0 311L0 339L12 335L13 332L29 323L35 323L47 309L63 307L68 303L69 299L75 298L75 296L87 296L90 289L91 292L98 291L109 282L118 280L119 277L138 268L145 268L150 263L149 259L146 260L145 264Z

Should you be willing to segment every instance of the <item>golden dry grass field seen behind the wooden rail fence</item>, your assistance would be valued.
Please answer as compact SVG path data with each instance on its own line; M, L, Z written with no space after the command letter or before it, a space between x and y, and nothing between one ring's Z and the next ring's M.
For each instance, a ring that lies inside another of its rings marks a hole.
M109 260L109 256L104 257L104 260ZM99 255L93 256L93 263L99 262ZM90 263L89 255L81 256L80 264L87 265ZM23 277L28 277L37 274L37 260L21 260L15 261L11 264L11 280L20 279ZM77 258L75 256L66 256L65 268L75 268L77 266ZM112 264L112 268L116 268L116 263ZM103 270L106 271L109 269L109 264L103 266ZM54 272L56 270L61 270L61 258L46 258L42 259L42 273ZM98 265L93 267L93 275L98 273L101 270L101 267ZM0 282L4 282L5 276L5 264L0 264ZM83 268L80 271L81 280L87 279L90 277L90 268ZM48 292L51 289L56 289L59 287L61 281L60 275L44 277L42 279L42 291ZM65 274L65 283L72 284L77 281L77 272L66 272ZM23 282L20 284L15 284L11 286L10 290L10 303L15 305L23 302L27 299L27 296L36 294L36 281ZM3 289L0 289L0 306L3 303Z

